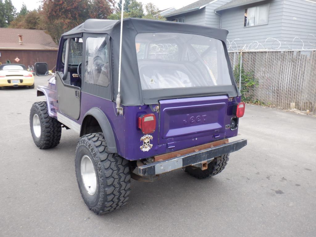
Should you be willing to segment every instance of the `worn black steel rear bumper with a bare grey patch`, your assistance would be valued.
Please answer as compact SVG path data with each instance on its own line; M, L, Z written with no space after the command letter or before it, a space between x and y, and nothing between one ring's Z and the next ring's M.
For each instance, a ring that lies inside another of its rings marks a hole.
M135 168L133 173L139 176L152 176L166 173L189 165L199 166L199 164L202 164L202 162L209 162L217 156L238 151L246 145L247 140L241 139L216 147L174 157L165 161L157 161L147 165L139 166Z

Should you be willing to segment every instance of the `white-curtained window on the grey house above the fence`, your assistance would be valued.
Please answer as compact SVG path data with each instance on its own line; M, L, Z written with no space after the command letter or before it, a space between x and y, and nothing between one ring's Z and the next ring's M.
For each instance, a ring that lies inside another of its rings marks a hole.
M245 9L244 27L268 24L269 4Z

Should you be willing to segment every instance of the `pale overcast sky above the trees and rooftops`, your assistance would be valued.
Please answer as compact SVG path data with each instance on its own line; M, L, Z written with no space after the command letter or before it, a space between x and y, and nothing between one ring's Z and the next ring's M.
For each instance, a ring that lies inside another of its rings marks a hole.
M17 12L20 11L23 0L11 0L13 5L15 6ZM138 0L139 1L139 0ZM176 9L179 9L183 6L186 6L190 3L194 3L196 0L176 0L176 1L170 1L170 0L140 0L143 4L147 3L153 3L155 4L159 9L166 9L170 7L175 7ZM40 6L39 0L25 0L25 5L27 6L28 10L36 9Z

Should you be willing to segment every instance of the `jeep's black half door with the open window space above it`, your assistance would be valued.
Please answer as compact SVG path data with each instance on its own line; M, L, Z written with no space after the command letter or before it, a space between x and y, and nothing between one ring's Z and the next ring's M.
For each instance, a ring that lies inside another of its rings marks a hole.
M56 72L59 110L73 119L79 119L82 82L77 69L81 68L82 40L79 38L67 39L64 42L62 57L64 72Z

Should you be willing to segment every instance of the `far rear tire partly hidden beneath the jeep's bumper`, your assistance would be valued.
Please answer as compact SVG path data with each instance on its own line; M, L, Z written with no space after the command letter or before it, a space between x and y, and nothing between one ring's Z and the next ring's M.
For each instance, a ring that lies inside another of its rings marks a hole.
M221 173L227 165L228 160L229 153L215 157L214 160L208 164L206 170L201 170L198 167L187 166L185 167L185 172L187 172L188 174L197 179L205 179L214 176L218 173Z

